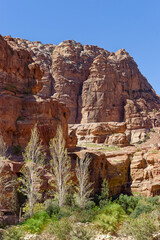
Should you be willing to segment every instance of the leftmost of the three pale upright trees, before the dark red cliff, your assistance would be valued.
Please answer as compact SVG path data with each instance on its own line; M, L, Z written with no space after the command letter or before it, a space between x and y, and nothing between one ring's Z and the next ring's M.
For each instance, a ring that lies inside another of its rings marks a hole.
M41 173L40 166L45 159L37 125L31 131L31 138L23 153L23 159L25 164L21 170L22 177L19 178L21 182L20 191L27 196L30 216L32 216L34 205L40 197L38 188Z

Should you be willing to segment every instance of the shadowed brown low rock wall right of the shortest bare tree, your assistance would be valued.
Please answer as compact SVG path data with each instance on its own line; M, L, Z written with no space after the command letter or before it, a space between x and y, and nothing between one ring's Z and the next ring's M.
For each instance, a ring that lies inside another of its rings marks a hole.
M127 193L129 181L130 154L125 152L98 152L83 150L75 152L78 157L88 154L92 158L90 180L95 192L100 193L101 184L106 178L109 183L110 196Z

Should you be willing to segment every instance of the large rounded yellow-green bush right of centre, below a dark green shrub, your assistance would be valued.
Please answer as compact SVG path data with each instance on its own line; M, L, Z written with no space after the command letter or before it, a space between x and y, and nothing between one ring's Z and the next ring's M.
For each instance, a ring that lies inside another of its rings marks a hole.
M110 203L95 217L94 224L105 233L113 233L125 217L126 213L119 204Z

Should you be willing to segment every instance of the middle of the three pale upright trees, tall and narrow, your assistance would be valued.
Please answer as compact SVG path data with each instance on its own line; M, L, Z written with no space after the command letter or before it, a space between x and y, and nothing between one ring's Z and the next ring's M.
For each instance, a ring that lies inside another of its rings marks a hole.
M55 194L58 197L59 206L63 206L69 188L71 178L71 160L65 148L65 140L61 126L57 128L56 136L50 140L50 169L53 174Z

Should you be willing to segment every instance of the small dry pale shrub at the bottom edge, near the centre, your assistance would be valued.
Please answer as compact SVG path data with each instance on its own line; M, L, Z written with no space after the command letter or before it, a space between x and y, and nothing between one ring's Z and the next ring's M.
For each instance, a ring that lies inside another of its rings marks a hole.
M70 233L70 240L90 240L92 238L92 233L84 226L76 225L73 227Z

